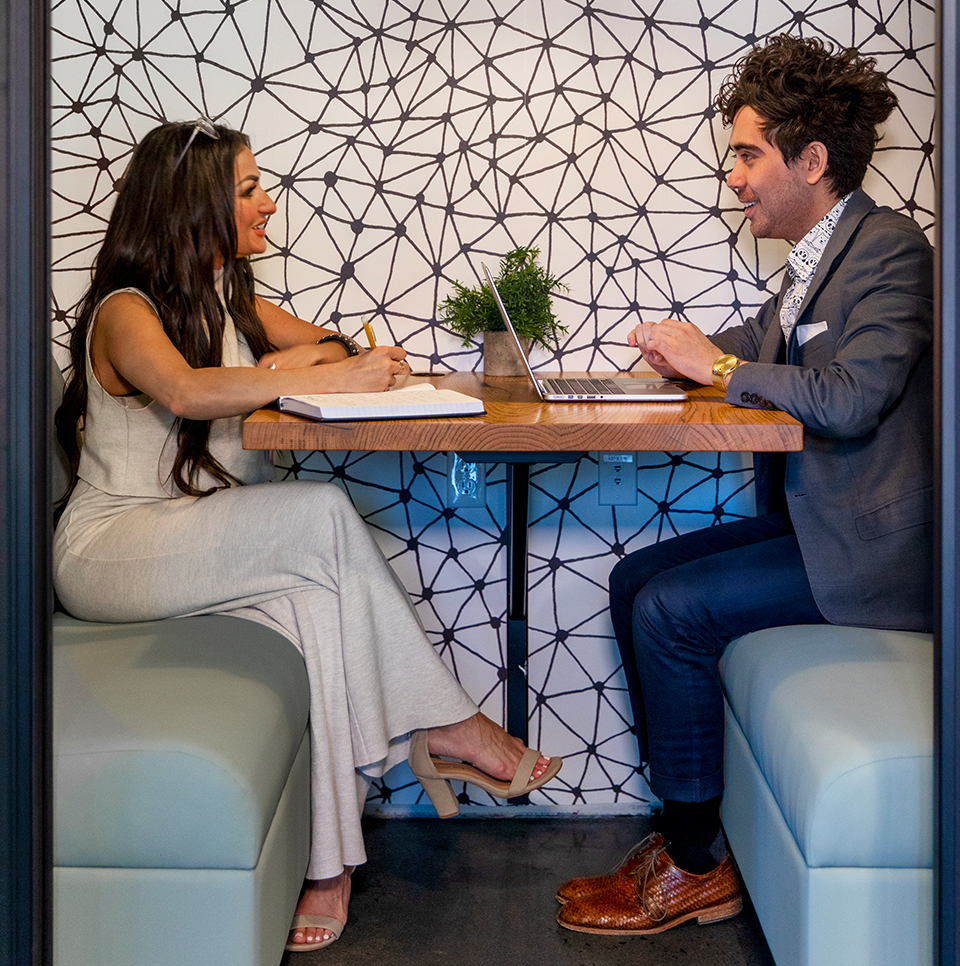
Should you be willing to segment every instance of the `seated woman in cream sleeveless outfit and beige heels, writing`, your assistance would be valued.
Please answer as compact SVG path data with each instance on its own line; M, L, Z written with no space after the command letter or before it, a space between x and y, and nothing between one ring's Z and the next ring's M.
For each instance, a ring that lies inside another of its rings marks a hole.
M339 936L367 786L408 749L443 815L448 778L513 796L560 759L478 711L339 489L270 483L269 457L242 450L243 417L277 396L384 390L406 366L254 295L248 256L275 211L239 132L164 124L135 150L71 335L54 579L82 619L230 613L301 649L312 846L287 948L303 950Z

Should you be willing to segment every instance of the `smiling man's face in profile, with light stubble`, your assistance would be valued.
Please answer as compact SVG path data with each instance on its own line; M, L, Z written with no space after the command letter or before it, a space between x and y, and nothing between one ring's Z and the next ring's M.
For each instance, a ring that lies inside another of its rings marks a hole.
M785 164L780 149L763 136L760 115L752 107L742 107L733 119L730 149L736 161L727 186L743 204L754 237L798 242L820 220L803 155Z

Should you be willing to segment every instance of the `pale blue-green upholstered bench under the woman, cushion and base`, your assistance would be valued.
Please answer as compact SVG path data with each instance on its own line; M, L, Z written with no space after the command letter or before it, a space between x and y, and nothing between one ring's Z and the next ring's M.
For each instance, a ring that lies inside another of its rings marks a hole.
M276 966L309 853L309 692L227 616L54 618L56 966Z

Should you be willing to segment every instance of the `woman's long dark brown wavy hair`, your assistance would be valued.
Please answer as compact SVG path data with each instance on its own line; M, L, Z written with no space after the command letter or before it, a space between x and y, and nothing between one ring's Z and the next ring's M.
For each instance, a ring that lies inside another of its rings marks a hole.
M162 124L137 145L110 216L93 281L70 334L70 370L57 411L57 438L70 460L76 485L87 408L87 333L101 300L120 288L138 288L160 313L170 341L194 368L222 362L224 311L215 286L223 258L223 296L234 324L259 359L274 347L256 311L253 272L238 258L234 218L235 162L250 146L246 135L216 126L219 140L197 131L177 158L193 124ZM210 422L180 419L173 481L189 496L207 471L221 486L239 483L210 453ZM64 497L64 502L66 497Z

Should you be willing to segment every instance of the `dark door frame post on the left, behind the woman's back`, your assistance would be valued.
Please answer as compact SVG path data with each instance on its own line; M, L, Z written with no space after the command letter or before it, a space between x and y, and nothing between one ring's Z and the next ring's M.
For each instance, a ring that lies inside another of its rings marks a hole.
M49 8L0 0L0 964L53 962Z

